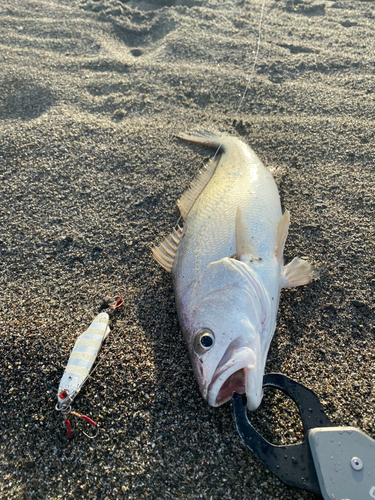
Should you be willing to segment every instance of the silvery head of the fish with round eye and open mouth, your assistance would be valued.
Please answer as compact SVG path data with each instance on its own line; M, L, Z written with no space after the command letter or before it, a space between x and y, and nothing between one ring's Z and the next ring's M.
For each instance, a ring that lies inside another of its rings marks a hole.
M249 410L262 400L269 307L261 288L249 266L221 259L207 266L185 297L181 324L210 406L222 405L234 392L246 394Z

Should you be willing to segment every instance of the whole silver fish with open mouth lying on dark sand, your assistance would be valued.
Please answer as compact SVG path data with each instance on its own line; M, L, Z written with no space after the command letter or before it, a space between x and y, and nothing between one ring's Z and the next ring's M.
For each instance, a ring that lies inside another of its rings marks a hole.
M271 172L240 139L197 129L182 140L216 153L178 200L177 226L152 248L172 275L176 309L200 391L218 407L246 394L254 411L276 328L280 291L317 277L295 257L284 265L290 213Z

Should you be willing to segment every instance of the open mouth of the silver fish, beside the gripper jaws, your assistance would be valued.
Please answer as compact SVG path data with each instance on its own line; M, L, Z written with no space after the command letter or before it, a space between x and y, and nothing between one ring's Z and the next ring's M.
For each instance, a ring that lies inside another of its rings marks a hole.
M262 384L259 388L257 358L248 346L242 346L224 355L218 364L207 389L210 406L220 406L229 401L233 393L246 394L247 407L255 410L262 399Z

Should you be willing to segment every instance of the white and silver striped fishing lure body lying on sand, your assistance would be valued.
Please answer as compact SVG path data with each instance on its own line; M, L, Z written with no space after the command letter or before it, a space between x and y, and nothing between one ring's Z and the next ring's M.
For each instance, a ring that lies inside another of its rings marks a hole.
M57 393L59 409L68 408L77 396L109 332L109 315L104 312L76 340Z

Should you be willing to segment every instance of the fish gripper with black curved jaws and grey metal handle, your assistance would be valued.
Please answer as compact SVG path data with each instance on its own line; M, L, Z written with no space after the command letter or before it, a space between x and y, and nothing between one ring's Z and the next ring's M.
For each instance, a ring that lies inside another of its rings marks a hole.
M321 494L324 500L375 499L375 440L355 427L334 427L316 394L280 373L263 387L280 389L299 409L305 439L276 446L247 418L246 396L233 395L237 431L252 453L284 483Z

